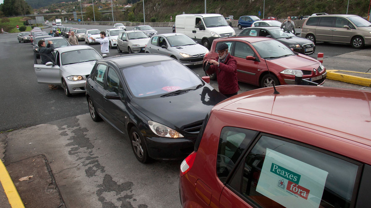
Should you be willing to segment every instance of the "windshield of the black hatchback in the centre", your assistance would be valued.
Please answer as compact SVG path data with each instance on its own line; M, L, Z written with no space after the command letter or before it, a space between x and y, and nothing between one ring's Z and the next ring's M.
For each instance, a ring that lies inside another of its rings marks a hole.
M196 74L175 60L135 65L124 68L122 73L135 97L162 95L184 89L193 90L203 85Z

